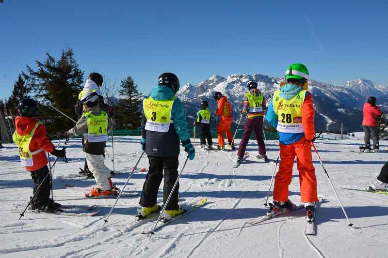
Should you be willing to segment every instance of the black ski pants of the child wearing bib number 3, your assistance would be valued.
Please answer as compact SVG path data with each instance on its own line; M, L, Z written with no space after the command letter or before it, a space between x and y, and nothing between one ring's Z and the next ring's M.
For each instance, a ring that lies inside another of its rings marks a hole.
M163 185L163 203L165 204L175 181L178 178L178 155L177 156L148 156L149 169L146 176L146 182L143 185L143 193L140 198L142 207L153 207L156 204L159 186L163 179L164 169L164 185ZM170 201L166 205L166 210L178 210L178 190L179 182L175 187L174 193Z

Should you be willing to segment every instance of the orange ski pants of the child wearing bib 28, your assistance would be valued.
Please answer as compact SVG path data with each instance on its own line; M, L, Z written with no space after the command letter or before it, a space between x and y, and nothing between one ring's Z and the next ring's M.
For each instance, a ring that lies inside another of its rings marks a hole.
M299 171L300 195L302 202L318 201L317 178L312 165L311 142L305 137L290 145L280 144L280 165L276 174L274 200L287 201L292 167L296 156Z

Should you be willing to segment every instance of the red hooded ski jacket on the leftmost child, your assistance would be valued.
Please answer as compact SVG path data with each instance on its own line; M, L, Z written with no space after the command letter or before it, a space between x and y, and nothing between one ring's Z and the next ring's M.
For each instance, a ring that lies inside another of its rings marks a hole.
M36 119L30 117L16 117L15 118L15 126L16 132L20 136L27 135L31 133L33 127L38 121ZM35 130L35 133L32 136L30 142L30 152L34 152L42 148L45 152L39 152L32 155L33 166L32 167L24 167L28 171L38 170L49 163L46 157L46 152L53 152L54 145L50 142L49 137L46 133L46 127L44 124L39 124Z

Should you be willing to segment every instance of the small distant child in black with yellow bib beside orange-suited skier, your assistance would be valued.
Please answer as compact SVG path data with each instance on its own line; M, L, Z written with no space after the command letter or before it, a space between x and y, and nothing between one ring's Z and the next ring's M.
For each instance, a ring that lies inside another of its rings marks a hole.
M210 135L211 113L207 101L201 101L201 109L197 112L197 120L194 121L194 126L199 124L201 128L201 148L205 148L206 139L208 140L207 150L213 149L213 141Z

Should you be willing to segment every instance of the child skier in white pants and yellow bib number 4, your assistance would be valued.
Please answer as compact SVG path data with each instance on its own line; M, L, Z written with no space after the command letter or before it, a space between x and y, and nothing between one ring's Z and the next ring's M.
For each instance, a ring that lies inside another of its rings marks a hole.
M83 114L77 124L58 137L78 136L82 134L83 152L86 162L96 179L96 187L86 197L104 197L117 195L111 180L111 170L104 164L105 142L108 140L108 115L99 107L99 96L88 91L81 100Z

